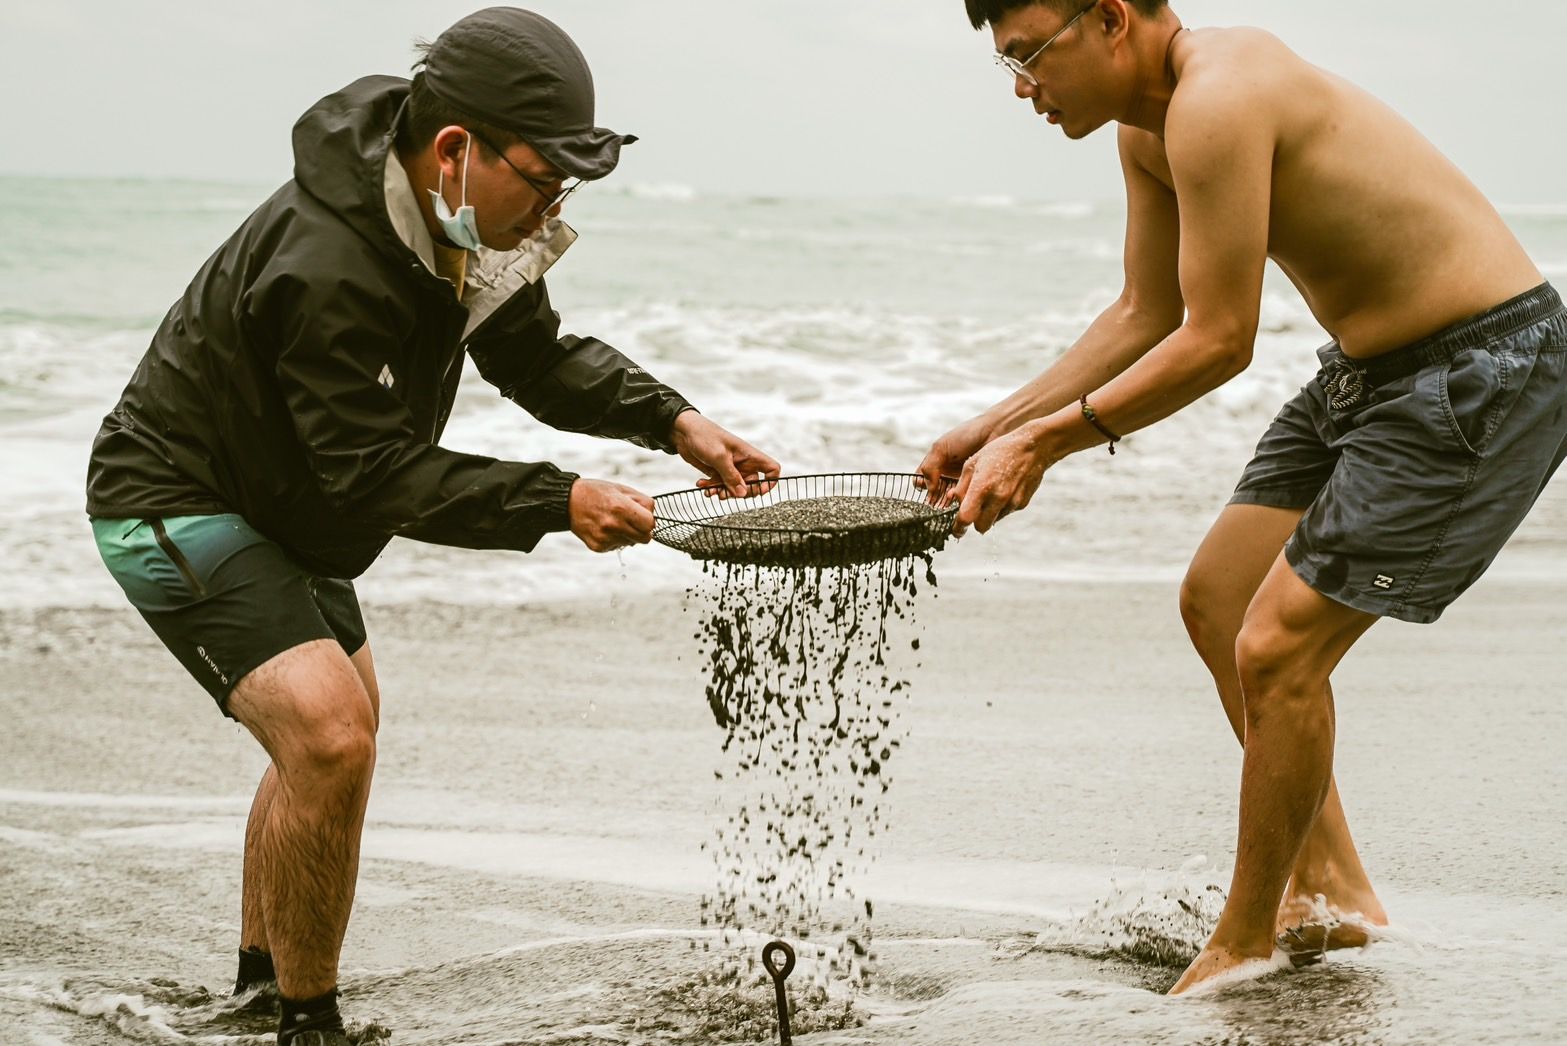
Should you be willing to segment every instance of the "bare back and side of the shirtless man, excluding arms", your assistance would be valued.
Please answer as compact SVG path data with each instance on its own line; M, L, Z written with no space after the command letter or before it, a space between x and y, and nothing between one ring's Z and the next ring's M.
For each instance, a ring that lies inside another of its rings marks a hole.
M1268 255L1349 355L1407 344L1543 280L1420 132L1269 33L1182 33L1171 63L1166 136L1124 127L1127 152L1178 194L1167 142L1192 110L1233 108L1229 133L1272 157Z

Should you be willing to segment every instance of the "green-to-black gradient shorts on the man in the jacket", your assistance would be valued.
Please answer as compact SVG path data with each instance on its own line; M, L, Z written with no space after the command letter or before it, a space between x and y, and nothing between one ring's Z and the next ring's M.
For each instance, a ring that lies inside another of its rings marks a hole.
M94 518L92 537L132 606L224 716L240 680L282 651L315 639L349 656L365 645L353 583L309 573L238 515Z

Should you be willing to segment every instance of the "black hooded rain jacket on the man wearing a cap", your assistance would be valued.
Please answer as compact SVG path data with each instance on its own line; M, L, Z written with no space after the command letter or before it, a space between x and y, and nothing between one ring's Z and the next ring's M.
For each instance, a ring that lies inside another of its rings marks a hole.
M563 337L542 279L462 337L469 310L387 215L406 97L406 80L367 77L299 119L293 180L207 260L103 420L89 515L237 512L335 578L393 536L531 551L570 526L577 476L436 446L464 355L548 426L674 453L689 404L603 341Z

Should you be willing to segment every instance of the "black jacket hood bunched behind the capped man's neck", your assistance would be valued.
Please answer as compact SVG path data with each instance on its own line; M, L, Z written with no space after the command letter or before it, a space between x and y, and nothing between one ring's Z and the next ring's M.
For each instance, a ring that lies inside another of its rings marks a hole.
M335 91L295 122L295 182L360 236L396 255L411 254L387 216L387 150L409 81L364 77Z

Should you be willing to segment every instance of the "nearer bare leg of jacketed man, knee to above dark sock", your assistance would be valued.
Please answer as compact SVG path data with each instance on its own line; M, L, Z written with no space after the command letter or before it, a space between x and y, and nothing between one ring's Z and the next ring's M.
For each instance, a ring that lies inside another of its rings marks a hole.
M293 999L313 997L337 986L375 769L376 711L356 665L324 639L244 676L229 711L276 769L255 853L277 986Z

